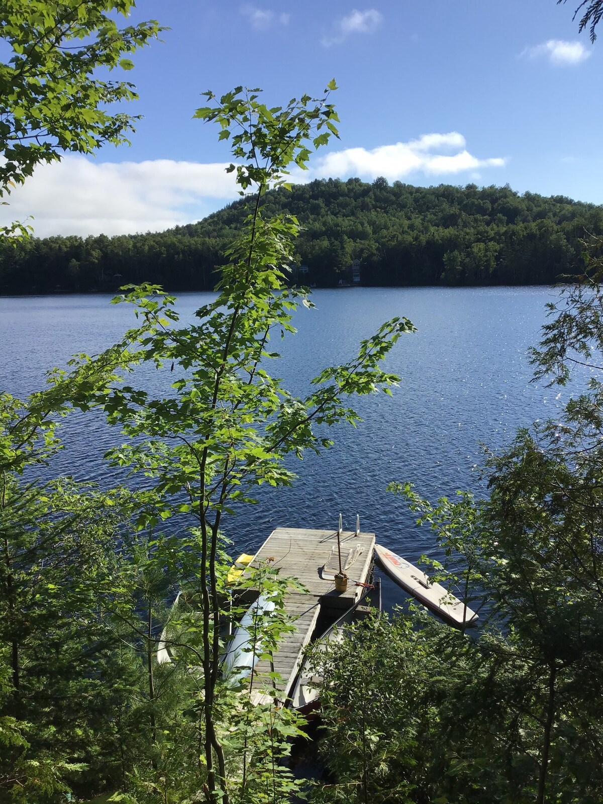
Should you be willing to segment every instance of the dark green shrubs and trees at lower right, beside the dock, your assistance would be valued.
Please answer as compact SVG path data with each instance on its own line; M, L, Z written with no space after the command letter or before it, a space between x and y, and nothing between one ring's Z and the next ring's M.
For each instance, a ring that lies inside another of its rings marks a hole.
M491 498L478 506L462 495L431 507L402 489L437 533L444 582L464 564L470 599L485 598L482 626L473 638L415 609L363 623L320 654L323 753L336 781L317 801L597 801L603 609L592 490L580 493L526 434L491 467Z

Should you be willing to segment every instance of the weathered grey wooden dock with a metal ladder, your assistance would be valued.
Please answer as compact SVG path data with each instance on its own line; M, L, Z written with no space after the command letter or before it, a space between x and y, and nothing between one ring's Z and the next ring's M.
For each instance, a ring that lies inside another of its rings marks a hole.
M361 549L359 555L346 570L347 591L335 591L334 580L322 578L326 562L333 559L331 548L337 547L337 531L314 531L293 527L277 527L262 544L252 565L264 564L270 560L279 569L281 576L293 577L303 584L307 592L291 593L285 597L285 613L289 616L295 630L286 634L273 656L274 670L280 673L282 682L277 686L285 695L289 694L299 670L302 652L310 642L318 617L332 616L335 621L343 611L351 608L366 591L357 586L356 581L366 584L373 563L375 534L355 531L342 531L340 536L342 559L349 552ZM266 674L270 671L269 662L258 662L254 671L253 688L259 690L268 684ZM255 696L256 701L261 695Z

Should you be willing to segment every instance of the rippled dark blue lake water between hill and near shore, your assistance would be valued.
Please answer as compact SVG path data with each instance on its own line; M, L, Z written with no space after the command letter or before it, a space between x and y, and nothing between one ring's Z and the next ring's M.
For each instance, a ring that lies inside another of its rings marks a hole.
M301 308L298 334L273 343L283 359L270 373L303 393L322 367L355 354L361 338L380 323L405 315L419 332L405 335L386 364L400 375L393 396L356 400L363 422L331 430L334 447L293 464L290 489L260 489L255 507L224 522L236 548L252 552L274 527L355 527L410 560L437 556L428 530L414 524L400 498L385 490L392 480L414 483L432 499L457 489L485 493L479 478L480 443L506 445L519 426L555 416L568 389L530 383L527 349L538 342L544 305L556 295L529 288L350 288L316 290L315 310ZM183 320L211 298L185 293L177 308ZM105 295L0 298L3 360L0 388L24 396L43 383L44 372L64 366L76 351L95 353L133 325L132 311L109 304ZM150 382L153 379L150 378ZM102 461L116 433L98 416L73 416L64 426L67 449L55 458L54 473L103 484L123 476ZM388 584L388 601L402 593Z

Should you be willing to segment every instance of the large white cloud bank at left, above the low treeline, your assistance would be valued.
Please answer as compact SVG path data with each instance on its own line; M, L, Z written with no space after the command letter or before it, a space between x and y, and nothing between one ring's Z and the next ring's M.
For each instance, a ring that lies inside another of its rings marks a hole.
M199 220L236 199L226 164L94 162L66 156L39 166L0 207L0 225L33 215L35 235L159 232Z

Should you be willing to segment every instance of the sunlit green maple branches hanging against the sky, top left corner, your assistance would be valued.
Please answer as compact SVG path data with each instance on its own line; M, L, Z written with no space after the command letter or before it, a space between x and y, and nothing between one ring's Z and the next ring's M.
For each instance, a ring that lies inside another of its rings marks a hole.
M35 166L65 151L89 154L105 142L128 142L137 119L108 107L137 97L133 84L99 70L133 68L130 54L162 31L154 20L117 27L133 0L6 0L0 36L10 59L0 64L0 197ZM13 224L3 234L31 227Z

